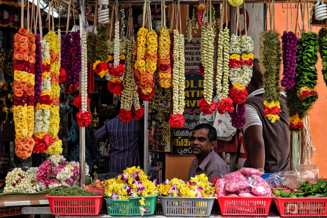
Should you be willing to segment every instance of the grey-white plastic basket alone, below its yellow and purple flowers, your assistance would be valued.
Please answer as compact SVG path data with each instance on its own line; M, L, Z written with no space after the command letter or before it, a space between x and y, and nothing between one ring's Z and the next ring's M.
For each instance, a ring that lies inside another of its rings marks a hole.
M216 197L160 197L165 216L210 216Z

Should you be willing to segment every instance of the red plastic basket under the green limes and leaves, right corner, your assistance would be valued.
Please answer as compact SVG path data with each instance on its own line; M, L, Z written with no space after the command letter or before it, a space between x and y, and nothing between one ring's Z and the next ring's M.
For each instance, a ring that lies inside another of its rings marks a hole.
M327 197L276 197L281 216L326 216Z

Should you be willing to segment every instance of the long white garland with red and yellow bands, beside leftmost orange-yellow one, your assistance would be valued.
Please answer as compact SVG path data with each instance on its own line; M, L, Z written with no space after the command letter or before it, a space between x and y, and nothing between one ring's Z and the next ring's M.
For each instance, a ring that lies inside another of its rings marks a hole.
M40 82L41 84L41 96L36 100L35 112L34 112L34 132L33 139L35 141L35 146L33 148L33 153L44 153L48 147L52 144L52 138L47 132L49 131L50 125L50 105L52 104L52 99L50 97L51 93L51 78L50 78L50 50L49 43L42 39L40 40L39 34L36 34L36 51L41 49L41 58L36 56L36 63L40 64L42 67L41 80L36 80L35 83ZM36 64L37 66L37 64ZM36 71L38 69L36 68ZM37 77L36 77L37 78ZM39 78L38 78L39 79Z

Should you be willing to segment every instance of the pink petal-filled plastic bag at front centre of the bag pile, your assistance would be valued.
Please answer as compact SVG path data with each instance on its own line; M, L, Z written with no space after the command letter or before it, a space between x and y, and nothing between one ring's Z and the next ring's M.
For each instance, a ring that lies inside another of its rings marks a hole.
M230 192L237 192L242 189L250 187L247 179L243 176L242 173L235 171L223 176L225 179L226 190Z

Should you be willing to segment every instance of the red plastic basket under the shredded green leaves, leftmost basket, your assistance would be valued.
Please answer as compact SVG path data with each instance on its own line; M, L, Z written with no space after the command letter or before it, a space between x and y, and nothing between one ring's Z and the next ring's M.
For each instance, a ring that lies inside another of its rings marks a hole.
M97 215L100 212L103 196L49 196L53 215Z

